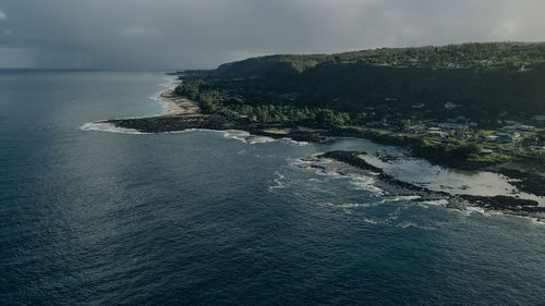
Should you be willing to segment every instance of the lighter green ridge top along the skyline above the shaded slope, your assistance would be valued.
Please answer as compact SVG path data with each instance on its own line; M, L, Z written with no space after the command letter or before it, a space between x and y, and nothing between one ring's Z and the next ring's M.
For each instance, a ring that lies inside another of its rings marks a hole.
M337 54L279 54L222 64L225 76L263 76L272 70L303 72L320 63L429 69L507 69L545 63L545 42L484 42L443 47L380 48Z

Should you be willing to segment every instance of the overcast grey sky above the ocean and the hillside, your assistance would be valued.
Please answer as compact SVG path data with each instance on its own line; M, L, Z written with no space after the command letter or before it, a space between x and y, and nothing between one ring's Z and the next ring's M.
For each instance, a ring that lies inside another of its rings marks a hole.
M0 69L210 69L253 56L545 41L544 0L2 0Z

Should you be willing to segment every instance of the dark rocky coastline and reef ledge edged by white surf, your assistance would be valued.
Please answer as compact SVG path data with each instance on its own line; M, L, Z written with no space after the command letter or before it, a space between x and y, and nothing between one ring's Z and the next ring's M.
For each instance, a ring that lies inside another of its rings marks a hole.
M298 125L229 121L218 114L201 113L196 102L179 97L172 91L166 91L161 94L161 97L170 100L170 102L173 103L172 109L175 111L171 110L167 114L157 117L107 120L104 121L104 123L110 123L117 127L131 128L142 133L166 133L185 130L239 130L249 132L253 135L266 136L274 139L290 138L295 142L307 143L322 143L336 136L344 136L338 135L332 131L313 130ZM367 163L364 159L359 157L362 155L365 155L365 152L330 151L318 156L318 158L334 159L375 174L377 178L377 186L385 192L385 195L416 196L417 198L414 200L419 201L446 199L448 201L447 207L455 209L476 206L485 210L502 211L505 213L540 219L545 218L545 207L538 207L538 203L535 200L520 199L511 196L458 195L447 192L432 191L426 187L400 181L385 173L382 169ZM514 175L513 173L519 175ZM520 174L519 172L513 171L510 171L507 174L509 174L509 176L514 175L525 178L522 175L524 173ZM519 185L531 184L532 189L541 193L542 191L538 185L541 185L542 181L538 179L540 178L534 178L533 181L521 180ZM535 182L536 184L532 185L532 183ZM540 193L535 194L541 195Z

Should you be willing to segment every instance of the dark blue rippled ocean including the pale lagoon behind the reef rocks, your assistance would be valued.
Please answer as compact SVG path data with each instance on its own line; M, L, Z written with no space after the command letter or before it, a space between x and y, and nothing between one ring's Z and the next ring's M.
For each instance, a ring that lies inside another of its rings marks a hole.
M365 139L90 124L165 113L172 85L0 71L0 305L545 305L542 222L384 196L304 158L388 151L399 178L508 186L489 173Z

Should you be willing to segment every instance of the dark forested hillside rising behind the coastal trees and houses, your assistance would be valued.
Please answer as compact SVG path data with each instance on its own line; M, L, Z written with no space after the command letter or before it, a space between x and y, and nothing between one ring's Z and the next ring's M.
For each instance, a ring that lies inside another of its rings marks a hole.
M545 42L279 54L222 64L205 75L206 87L249 105L477 121L545 114ZM456 108L446 109L448 102Z

